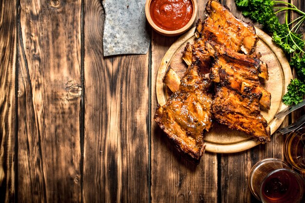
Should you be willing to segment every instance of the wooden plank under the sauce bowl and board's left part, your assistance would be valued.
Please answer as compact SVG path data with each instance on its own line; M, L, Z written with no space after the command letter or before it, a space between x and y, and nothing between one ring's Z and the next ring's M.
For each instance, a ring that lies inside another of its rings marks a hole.
M197 18L204 18L207 1L198 1ZM153 120L157 105L155 78L160 62L177 37L152 31L152 203L216 203L217 155L206 152L195 166L184 160Z

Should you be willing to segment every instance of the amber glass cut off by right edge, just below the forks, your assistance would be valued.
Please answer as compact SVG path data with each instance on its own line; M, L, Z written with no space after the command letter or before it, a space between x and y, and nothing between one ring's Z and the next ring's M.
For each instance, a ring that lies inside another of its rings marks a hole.
M284 153L288 164L305 178L305 126L287 136Z

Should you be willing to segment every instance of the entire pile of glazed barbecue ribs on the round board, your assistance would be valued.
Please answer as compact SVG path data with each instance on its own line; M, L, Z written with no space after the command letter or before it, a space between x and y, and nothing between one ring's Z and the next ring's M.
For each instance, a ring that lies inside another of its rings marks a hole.
M186 73L179 78L169 66L163 82L173 93L154 115L177 149L194 160L204 153L204 133L212 120L270 141L260 108L270 107L271 95L259 82L259 77L268 79L268 72L260 54L254 53L254 26L216 0L208 1L206 14L197 21L194 44L187 43L183 52Z

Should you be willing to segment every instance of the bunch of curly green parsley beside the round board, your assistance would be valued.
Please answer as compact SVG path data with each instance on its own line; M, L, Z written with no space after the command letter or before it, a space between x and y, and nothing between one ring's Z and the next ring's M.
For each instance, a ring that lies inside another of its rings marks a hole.
M286 105L298 104L305 95L305 40L302 39L301 34L297 34L297 31L305 21L305 12L285 1L235 0L235 3L243 11L244 16L261 23L272 34L275 43L287 54L293 54L289 63L295 68L298 78L290 81L283 102ZM298 13L299 17L288 22L288 11ZM283 24L276 16L279 12L286 12Z

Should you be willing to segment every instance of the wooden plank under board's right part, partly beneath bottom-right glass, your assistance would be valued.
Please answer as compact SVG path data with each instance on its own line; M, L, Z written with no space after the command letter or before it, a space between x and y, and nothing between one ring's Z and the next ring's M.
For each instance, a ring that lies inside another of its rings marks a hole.
M230 8L230 11L237 18L249 22L235 5L234 0L222 0L223 4ZM259 24L255 24L261 27ZM282 126L288 124L288 117ZM259 145L252 149L234 154L221 154L220 159L220 201L222 203L254 203L259 202L248 188L248 175L251 167L261 159L274 157L284 159L283 152L284 137L274 133L271 142L266 145Z

